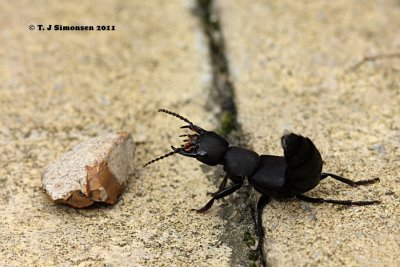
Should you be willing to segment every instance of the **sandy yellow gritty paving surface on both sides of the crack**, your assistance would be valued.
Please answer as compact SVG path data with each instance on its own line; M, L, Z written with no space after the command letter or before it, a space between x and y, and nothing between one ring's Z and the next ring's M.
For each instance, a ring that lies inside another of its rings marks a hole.
M226 230L227 219L241 220L236 194L205 215L189 211L215 189L214 168L178 156L141 167L180 142L182 122L158 108L217 127L192 5L0 2L1 266L228 266L232 254L248 257L232 247L242 236ZM381 179L356 189L327 179L308 193L379 199L377 206L273 200L263 216L268 264L400 265L400 58L350 69L364 56L399 53L400 3L220 0L217 7L246 143L281 155L289 129L314 141L324 170ZM30 31L31 24L116 30ZM43 168L117 130L137 146L119 202L79 210L49 201ZM251 240L250 230L243 234Z

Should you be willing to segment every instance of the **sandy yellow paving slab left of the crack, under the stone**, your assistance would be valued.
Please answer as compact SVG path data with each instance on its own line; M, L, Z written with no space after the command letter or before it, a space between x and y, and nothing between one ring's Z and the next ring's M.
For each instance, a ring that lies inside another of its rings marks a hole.
M173 156L190 114L204 110L210 73L186 1L0 2L0 265L227 266L218 208L190 212L214 185ZM115 25L115 31L30 31L30 24ZM135 170L114 206L78 210L42 192L44 167L90 137L126 130ZM218 206L218 205L217 205Z

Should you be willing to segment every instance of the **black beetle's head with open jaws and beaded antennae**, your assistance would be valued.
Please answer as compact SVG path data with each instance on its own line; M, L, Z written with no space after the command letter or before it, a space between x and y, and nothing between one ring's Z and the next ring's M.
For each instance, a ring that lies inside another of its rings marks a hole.
M171 146L172 152L153 159L147 162L144 166L152 164L153 162L171 156L175 153L196 158L198 161L211 166L222 163L225 153L229 147L229 143L223 137L214 132L206 131L199 126L194 125L191 121L175 112L166 109L159 109L158 111L170 114L187 122L188 124L182 126L181 128L189 129L193 133L180 135L180 137L186 137L186 139L183 140L184 143L180 147L176 148Z

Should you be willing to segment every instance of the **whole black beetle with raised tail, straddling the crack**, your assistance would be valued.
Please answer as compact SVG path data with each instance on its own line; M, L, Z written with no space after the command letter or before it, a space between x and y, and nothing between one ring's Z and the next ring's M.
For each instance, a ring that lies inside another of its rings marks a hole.
M352 181L347 178L332 173L322 172L323 161L321 154L313 142L301 135L294 133L285 133L281 138L284 151L284 157L273 155L258 155L256 152L237 146L230 146L228 141L212 131L206 131L193 124L185 117L166 110L159 109L175 116L188 123L181 128L187 128L194 134L183 134L180 137L186 137L184 144L179 148L171 146L172 151L161 157L147 162L144 166L152 164L165 157L175 153L187 157L193 157L198 161L215 166L223 165L226 172L218 191L212 193L211 200L202 208L196 209L197 212L205 212L211 208L214 200L228 196L238 190L248 177L249 183L261 193L257 203L257 225L259 234L259 244L264 236L262 228L262 210L266 204L273 198L297 198L306 202L313 203L333 203L340 205L372 205L380 201L351 201L313 198L303 195L316 187L319 182L327 177L348 184L350 186L359 186L373 184L379 181L379 178ZM227 187L228 179L233 183Z

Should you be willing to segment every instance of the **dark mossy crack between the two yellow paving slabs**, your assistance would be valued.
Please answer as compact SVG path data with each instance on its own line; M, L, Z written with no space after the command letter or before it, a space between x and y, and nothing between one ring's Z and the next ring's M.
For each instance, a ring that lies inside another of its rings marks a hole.
M194 14L199 17L204 34L208 41L209 54L212 68L212 90L210 101L206 107L218 111L216 117L219 134L230 141L236 141L244 147L249 147L243 141L244 134L237 121L237 108L235 103L235 90L230 79L229 63L225 55L225 43L214 0L197 0ZM234 142L235 143L235 142ZM208 166L204 171L209 171ZM221 170L213 172L214 177L222 177L225 173ZM215 180L215 184L220 181ZM221 217L226 221L224 234L221 241L232 248L231 266L257 266L266 265L261 249L254 250L258 237L256 236L256 205L254 190L251 186L235 193L235 197L222 204ZM260 246L261 247L261 246Z

